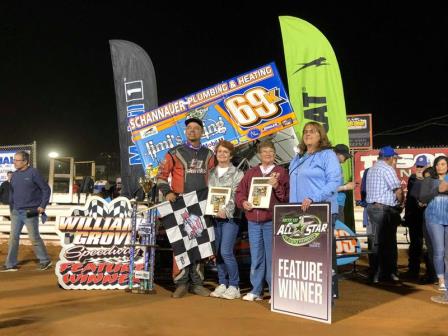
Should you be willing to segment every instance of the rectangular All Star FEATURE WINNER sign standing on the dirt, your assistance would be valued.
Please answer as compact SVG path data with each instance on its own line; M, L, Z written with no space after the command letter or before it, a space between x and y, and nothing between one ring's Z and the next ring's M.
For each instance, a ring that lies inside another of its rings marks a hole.
M331 323L330 205L274 208L271 310Z

